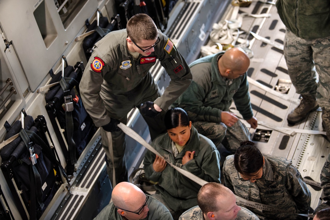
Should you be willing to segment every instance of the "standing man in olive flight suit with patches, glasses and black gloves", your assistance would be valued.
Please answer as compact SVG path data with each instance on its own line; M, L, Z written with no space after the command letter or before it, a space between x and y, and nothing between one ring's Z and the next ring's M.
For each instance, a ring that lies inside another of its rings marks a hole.
M171 78L163 94L149 72L157 59ZM117 127L118 123L126 124L127 113L137 107L153 140L166 132L163 116L191 79L182 55L148 15L132 16L126 29L110 32L95 44L79 88L85 109L95 125L102 127L110 180L113 176L112 155L116 183L128 180L125 134ZM107 132L112 132L112 143L107 141Z

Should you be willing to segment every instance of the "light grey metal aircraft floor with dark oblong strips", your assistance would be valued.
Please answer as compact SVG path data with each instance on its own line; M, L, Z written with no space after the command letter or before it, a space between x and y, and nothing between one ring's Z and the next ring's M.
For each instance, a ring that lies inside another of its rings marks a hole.
M233 6L228 6L226 15L222 19L228 19L233 11ZM262 37L269 38L272 41L283 44L285 35L285 26L278 16L274 5L252 1L249 7L240 7L239 13L270 13L268 18L253 18L245 16L242 27L249 33L252 31ZM248 75L258 82L275 89L279 80L289 80L287 66L285 63L283 51L256 40L250 34L242 34L241 38L249 40L249 48L253 51ZM309 117L290 127L287 123L288 113L297 105L289 101L282 100L277 96L265 92L264 90L250 84L250 96L253 112L258 121L264 121L274 126L284 128L299 128L305 130L322 131L321 111L310 113ZM291 85L287 97L299 99L300 95L296 93ZM234 106L233 106L234 107ZM290 136L281 132L258 126L258 129L270 130L271 136L268 141L255 141L262 153L286 157L292 159L303 177L320 182L320 173L322 166L329 154L329 142L321 135L295 134ZM250 129L252 135L255 135L255 129ZM312 208L321 202L322 190L318 187L308 185L312 193Z

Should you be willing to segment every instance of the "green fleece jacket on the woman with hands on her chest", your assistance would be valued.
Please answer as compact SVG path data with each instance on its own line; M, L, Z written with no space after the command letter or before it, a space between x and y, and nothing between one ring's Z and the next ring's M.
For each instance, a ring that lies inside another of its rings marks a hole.
M167 133L153 140L152 147L177 167L181 167L208 182L220 183L219 151L210 139L198 134L193 126L189 141L176 157L172 152L172 140ZM182 165L185 151L195 151L195 154L192 160ZM167 165L163 172L155 172L152 168L155 157L154 153L147 151L143 162L144 169L148 179L158 182L155 188L161 194L166 205L174 211L197 205L197 193L201 186L170 165Z

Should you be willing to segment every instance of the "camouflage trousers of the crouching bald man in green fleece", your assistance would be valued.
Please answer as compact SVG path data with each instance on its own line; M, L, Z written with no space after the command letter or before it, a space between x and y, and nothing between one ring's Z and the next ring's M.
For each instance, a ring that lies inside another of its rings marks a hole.
M224 147L231 153L235 153L242 141L251 141L248 128L238 120L233 126L227 127L224 123L214 123L208 121L196 121L192 125L199 134L209 138L217 147L224 138Z

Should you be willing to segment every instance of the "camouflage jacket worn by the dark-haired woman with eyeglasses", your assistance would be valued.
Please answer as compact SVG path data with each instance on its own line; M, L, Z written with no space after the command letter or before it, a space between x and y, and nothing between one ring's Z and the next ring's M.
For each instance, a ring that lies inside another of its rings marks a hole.
M264 154L264 158L263 178L251 183L238 179L234 155L227 156L223 165L225 185L244 199L288 212L307 214L311 204L311 193L291 160L268 154ZM260 219L301 219L300 216L290 213L249 209Z

